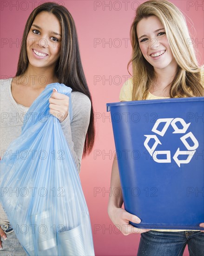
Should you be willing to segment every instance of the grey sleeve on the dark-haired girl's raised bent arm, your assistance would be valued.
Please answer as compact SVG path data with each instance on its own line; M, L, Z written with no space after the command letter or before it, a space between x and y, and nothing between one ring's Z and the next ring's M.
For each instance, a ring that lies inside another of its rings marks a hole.
M72 92L72 121L69 115L60 122L67 144L71 151L78 172L80 172L84 142L91 114L90 99L80 92Z

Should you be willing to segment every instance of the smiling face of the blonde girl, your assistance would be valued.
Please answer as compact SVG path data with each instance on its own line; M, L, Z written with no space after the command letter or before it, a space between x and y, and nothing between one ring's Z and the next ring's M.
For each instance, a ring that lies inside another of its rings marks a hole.
M165 28L156 16L138 22L137 35L140 50L154 70L177 67L165 33Z

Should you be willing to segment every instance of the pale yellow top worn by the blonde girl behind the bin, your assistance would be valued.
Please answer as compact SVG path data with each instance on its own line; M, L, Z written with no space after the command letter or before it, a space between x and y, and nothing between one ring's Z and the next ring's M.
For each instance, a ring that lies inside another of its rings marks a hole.
M204 86L204 71L201 73L202 84ZM132 90L133 84L132 79L127 80L123 87L120 90L119 100L120 101L132 101ZM169 97L159 97L151 94L147 95L146 100L159 100L159 99L168 99ZM166 231L166 232L178 232L178 231L185 231L186 229L154 229L155 231ZM191 231L198 231L198 229L191 230Z

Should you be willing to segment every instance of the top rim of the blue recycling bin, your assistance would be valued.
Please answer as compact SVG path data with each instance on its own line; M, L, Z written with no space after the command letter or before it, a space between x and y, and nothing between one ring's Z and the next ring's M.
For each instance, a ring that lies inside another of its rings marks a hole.
M170 98L170 99L158 99L158 100L143 100L143 101L119 101L113 103L106 103L107 112L110 111L110 107L128 106L128 105L141 105L141 104L155 104L166 102L184 102L184 101L204 101L204 97L188 97L188 98Z

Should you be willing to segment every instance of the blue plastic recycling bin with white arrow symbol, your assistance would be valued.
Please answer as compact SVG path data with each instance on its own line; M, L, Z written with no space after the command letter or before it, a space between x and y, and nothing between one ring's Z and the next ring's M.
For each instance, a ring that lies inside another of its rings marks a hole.
M204 97L106 104L125 210L144 229L204 229Z

